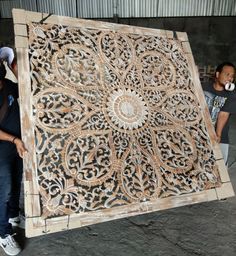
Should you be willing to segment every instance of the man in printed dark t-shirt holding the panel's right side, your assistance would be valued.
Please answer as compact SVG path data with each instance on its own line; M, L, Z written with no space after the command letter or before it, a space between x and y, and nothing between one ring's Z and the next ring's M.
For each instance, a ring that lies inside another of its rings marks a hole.
M213 84L203 84L206 102L215 125L217 141L220 143L226 165L229 151L229 116L236 111L235 92L232 91L234 78L235 66L230 62L224 62L216 68ZM230 90L229 84L232 85Z

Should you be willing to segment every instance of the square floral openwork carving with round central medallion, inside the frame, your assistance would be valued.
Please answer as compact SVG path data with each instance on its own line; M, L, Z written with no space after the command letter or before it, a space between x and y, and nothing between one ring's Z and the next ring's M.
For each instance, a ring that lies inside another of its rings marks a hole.
M177 40L55 24L28 29L44 218L220 184Z

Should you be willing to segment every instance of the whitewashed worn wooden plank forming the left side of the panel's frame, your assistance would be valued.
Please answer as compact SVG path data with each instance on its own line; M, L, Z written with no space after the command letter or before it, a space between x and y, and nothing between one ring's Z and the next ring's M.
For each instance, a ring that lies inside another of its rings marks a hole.
M27 41L28 42L28 41ZM19 84L19 103L21 111L21 130L27 130L22 134L27 153L24 156L24 191L25 191L25 215L26 217L35 217L41 215L40 197L37 189L37 167L34 145L34 130L31 125L32 117L28 111L31 109L31 83L29 76L28 50L26 48L17 49L18 72L21 74L18 78Z

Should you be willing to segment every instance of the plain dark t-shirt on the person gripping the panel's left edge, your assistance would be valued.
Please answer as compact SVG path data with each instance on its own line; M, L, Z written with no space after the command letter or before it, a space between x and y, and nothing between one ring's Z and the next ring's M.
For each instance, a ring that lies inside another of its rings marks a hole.
M18 99L18 87L8 79L4 79L5 95L7 95L7 111L0 123L0 130L20 138L20 113ZM0 90L0 107L3 104L3 90ZM16 154L15 144L0 140L0 160Z

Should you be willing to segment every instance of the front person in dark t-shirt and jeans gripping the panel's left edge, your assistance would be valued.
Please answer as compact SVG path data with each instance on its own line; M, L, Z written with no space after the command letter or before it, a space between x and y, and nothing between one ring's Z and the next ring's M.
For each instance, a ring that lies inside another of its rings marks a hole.
M19 216L22 157L26 152L20 133L17 84L5 78L0 61L0 245L8 255L21 249L13 237L12 224Z

